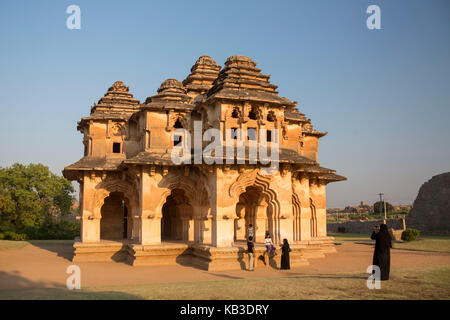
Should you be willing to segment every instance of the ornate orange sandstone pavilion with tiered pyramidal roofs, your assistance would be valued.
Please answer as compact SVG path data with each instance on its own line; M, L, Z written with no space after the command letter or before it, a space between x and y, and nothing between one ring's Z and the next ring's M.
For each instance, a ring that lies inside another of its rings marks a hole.
M120 248L132 264L190 256L207 269L233 268L250 223L256 243L266 231L276 244L286 238L298 261L308 252L333 251L325 187L345 178L317 162L318 140L326 133L314 130L297 103L279 97L260 71L248 57L231 56L221 68L202 56L182 83L164 81L145 103L121 81L108 89L78 123L84 157L63 171L80 183L79 257L89 252L95 260L94 253L104 255L109 247ZM174 131L194 135L194 122L202 132L216 128L224 136L227 129L252 129L254 138L243 139L246 148L260 143L260 130L278 129L278 136L266 138L269 148L279 146L279 170L264 174L247 153L242 163L176 165ZM103 240L120 240L128 249Z

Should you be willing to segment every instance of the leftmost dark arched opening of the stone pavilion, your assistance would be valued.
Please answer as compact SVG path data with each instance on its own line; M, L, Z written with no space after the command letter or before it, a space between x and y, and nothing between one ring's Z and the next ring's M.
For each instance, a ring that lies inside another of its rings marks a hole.
M128 200L122 192L111 192L101 208L100 238L128 238Z

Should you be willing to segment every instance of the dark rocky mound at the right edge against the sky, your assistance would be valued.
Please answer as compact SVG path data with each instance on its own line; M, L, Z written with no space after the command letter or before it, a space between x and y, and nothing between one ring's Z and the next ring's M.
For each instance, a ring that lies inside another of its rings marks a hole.
M406 227L422 233L450 233L450 172L436 175L420 187Z

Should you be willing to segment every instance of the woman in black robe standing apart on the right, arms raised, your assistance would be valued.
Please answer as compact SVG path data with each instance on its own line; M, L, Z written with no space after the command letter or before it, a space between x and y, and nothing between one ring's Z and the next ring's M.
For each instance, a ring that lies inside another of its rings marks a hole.
M389 280L389 271L391 268L392 239L389 234L387 225L382 224L378 233L374 230L370 238L376 241L372 264L380 267L380 280Z

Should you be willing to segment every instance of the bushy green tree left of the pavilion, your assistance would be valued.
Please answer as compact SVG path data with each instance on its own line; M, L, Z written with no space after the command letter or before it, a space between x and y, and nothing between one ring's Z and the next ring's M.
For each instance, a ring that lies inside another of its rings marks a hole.
M73 192L70 181L42 164L0 168L0 232L40 228L46 219L69 213Z

